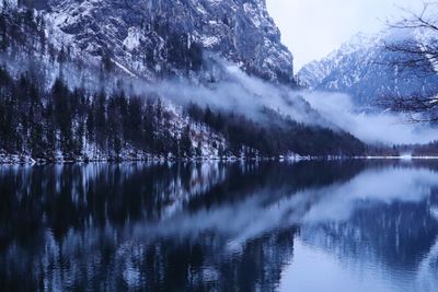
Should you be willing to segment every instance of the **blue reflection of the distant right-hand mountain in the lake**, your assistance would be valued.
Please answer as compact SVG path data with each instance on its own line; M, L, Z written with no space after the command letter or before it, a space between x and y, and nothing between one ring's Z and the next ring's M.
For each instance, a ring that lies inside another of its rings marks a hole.
M425 257L437 256L429 255L438 234L438 221L429 212L434 205L438 205L437 189L423 202L359 202L347 222L309 225L301 229L301 236L308 244L335 254L341 261L355 259L359 266L378 265L384 275L411 275L414 281L412 271L420 277ZM433 281L437 284L438 278Z

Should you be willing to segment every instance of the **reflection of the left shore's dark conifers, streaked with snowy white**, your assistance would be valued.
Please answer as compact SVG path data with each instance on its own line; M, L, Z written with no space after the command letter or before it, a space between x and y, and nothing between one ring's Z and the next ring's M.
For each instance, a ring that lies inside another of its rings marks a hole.
M176 164L2 168L1 246L21 240L26 244L45 227L61 240L70 229L122 227L160 219L176 200L223 180L221 168L217 164L203 170Z

